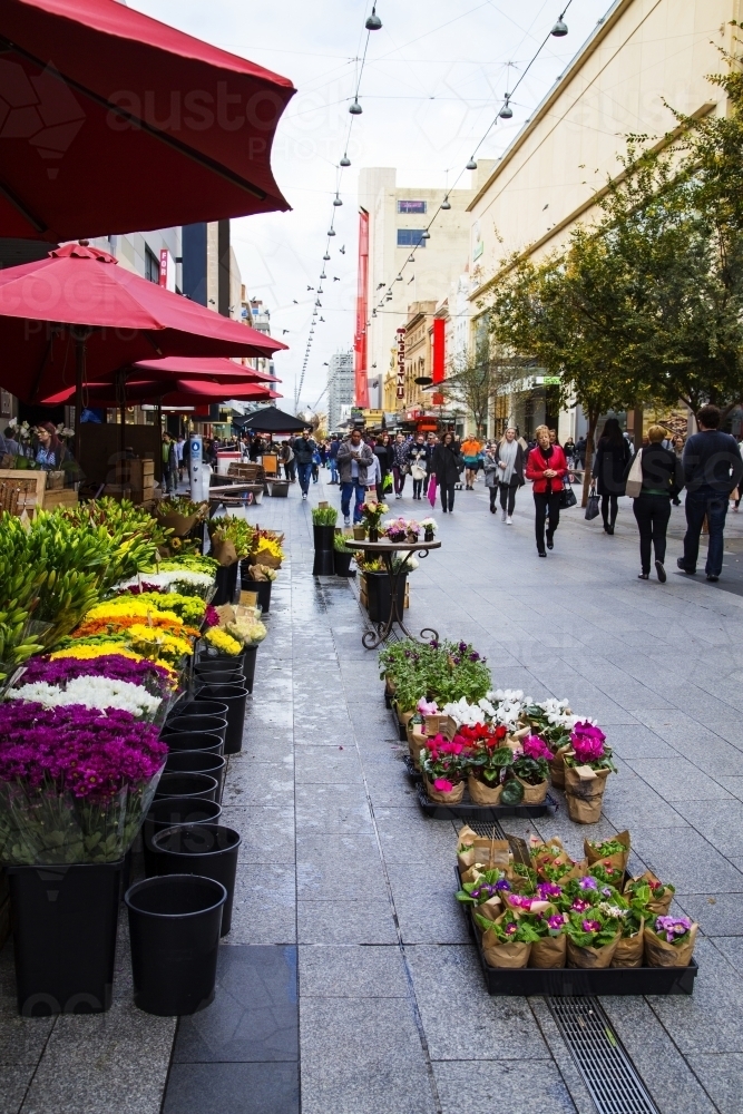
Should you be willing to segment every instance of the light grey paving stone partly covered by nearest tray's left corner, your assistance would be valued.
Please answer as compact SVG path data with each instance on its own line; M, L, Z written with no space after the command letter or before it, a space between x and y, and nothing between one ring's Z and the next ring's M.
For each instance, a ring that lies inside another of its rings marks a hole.
M549 1059L526 998L491 998L475 948L405 946L431 1059Z

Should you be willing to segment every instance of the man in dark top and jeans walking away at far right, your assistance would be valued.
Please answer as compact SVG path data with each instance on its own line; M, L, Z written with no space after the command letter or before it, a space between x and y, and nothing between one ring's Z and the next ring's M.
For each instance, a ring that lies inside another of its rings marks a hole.
M696 416L700 432L688 438L682 459L686 481L686 534L684 556L676 564L690 576L696 573L700 535L706 516L710 538L704 571L712 582L718 580L722 573L723 530L730 494L743 479L737 441L720 430L721 418L717 407L702 407Z

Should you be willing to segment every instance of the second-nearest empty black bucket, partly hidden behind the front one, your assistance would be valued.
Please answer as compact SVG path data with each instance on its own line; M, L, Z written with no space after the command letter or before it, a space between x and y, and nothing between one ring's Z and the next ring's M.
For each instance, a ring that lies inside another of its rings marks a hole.
M153 840L159 874L202 874L222 882L227 900L222 912L221 936L226 936L232 927L239 843L239 833L222 824L167 828Z

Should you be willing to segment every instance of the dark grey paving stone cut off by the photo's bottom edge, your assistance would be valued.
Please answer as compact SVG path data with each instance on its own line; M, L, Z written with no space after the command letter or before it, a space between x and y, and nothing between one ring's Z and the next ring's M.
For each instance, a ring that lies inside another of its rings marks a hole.
M299 1114L296 1064L174 1064L163 1114Z

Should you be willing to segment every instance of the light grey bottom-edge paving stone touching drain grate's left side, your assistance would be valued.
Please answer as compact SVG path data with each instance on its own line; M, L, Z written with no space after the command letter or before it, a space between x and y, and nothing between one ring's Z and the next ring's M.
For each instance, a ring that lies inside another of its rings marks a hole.
M575 1114L555 1064L477 1058L434 1063L442 1114Z

